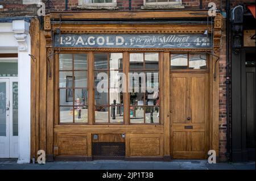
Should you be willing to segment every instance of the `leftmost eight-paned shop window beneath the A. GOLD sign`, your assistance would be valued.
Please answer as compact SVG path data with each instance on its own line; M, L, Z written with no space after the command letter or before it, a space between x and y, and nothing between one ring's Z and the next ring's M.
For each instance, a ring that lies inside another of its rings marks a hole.
M59 55L60 123L88 123L87 54Z

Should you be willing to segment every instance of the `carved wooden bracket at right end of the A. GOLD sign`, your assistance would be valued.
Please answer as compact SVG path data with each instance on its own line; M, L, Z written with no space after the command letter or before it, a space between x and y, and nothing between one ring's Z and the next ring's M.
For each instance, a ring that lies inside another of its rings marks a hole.
M218 53L220 51L221 29L222 29L222 15L220 13L217 13L214 19L214 32L213 32L214 53Z

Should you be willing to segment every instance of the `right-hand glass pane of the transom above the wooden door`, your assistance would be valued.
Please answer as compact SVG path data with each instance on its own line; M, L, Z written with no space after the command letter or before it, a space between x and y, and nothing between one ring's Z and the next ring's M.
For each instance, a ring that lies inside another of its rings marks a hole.
M205 54L189 54L189 69L207 69Z

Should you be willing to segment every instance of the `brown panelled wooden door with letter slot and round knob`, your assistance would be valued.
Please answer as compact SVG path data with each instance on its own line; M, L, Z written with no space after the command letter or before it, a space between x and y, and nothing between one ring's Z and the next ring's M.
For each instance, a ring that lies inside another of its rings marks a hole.
M209 145L207 73L171 74L171 153L173 158L203 159Z

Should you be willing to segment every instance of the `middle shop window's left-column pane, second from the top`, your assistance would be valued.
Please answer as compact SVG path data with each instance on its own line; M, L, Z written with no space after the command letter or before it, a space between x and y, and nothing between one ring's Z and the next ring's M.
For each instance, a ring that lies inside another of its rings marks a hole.
M108 77L108 71L94 71L94 88L108 89Z

